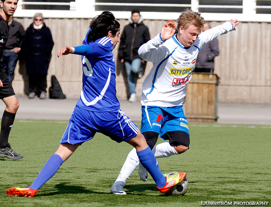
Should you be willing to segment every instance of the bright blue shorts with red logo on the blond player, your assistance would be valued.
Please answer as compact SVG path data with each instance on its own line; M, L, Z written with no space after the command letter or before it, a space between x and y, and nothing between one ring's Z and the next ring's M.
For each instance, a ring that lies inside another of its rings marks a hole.
M151 131L160 133L160 137L162 137L167 132L183 131L189 135L183 106L142 106L141 109L141 133Z

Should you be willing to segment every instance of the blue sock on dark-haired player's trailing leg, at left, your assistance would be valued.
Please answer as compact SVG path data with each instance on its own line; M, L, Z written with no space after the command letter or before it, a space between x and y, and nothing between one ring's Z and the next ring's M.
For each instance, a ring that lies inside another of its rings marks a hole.
M38 177L34 180L29 187L38 190L47 180L49 180L56 173L58 168L63 163L61 156L53 154L47 160L42 170L39 172Z

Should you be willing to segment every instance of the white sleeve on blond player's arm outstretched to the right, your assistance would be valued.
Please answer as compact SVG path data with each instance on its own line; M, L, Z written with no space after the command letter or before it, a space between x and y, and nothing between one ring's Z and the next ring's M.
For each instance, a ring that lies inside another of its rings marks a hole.
M231 22L224 22L222 25L218 25L209 30L206 30L199 34L198 36L198 47L202 48L207 42L210 42L219 35L224 35L233 30L233 25Z

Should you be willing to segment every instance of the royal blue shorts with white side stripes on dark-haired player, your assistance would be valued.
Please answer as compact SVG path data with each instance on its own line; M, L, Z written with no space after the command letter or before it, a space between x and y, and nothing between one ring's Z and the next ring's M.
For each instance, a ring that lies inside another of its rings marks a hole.
M135 137L138 128L120 109L96 112L75 106L60 143L82 144L96 132L120 143Z

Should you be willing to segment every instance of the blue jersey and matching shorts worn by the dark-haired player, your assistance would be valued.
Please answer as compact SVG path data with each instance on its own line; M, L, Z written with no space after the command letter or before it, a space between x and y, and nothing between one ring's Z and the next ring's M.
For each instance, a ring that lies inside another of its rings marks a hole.
M83 143L96 132L116 142L127 141L138 133L137 126L120 110L116 97L113 43L108 37L87 40L74 47L82 55L83 88L60 143Z

